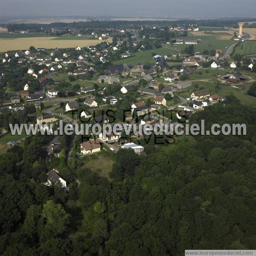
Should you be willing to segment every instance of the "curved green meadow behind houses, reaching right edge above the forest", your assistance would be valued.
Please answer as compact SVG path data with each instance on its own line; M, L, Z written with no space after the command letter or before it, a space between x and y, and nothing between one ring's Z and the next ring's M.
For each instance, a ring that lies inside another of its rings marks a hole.
M194 84L198 84L199 88L195 88ZM192 86L187 87L183 90L179 90L178 94L186 98L191 96L192 92L201 90L200 87L204 87L204 89L209 89L211 94L218 94L223 97L229 94L233 94L238 99L240 99L242 104L256 107L255 98L253 96L248 95L246 90L231 87L232 84L221 84L221 88L218 90L218 92L216 92L215 85L215 83L211 82L196 81L193 83Z

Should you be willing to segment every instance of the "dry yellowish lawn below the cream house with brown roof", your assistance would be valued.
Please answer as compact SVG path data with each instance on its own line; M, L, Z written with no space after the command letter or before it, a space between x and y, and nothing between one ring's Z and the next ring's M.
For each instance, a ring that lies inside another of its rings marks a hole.
M93 172L99 174L100 177L106 177L108 180L111 180L109 177L109 172L112 170L113 160L107 154L94 154L87 157L84 157L84 166L90 168Z

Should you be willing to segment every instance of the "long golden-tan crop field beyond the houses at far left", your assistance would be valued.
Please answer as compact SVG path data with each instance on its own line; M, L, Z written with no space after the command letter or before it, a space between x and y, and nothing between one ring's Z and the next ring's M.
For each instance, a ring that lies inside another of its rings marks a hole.
M38 37L38 38L13 38L13 39L0 39L0 52L28 49L31 45L38 48L44 47L47 49L58 48L71 48L78 45L77 40L52 40L55 37ZM102 40L104 41L104 40ZM89 45L99 44L99 40L79 40L80 47L88 47ZM111 42L112 38L106 41Z

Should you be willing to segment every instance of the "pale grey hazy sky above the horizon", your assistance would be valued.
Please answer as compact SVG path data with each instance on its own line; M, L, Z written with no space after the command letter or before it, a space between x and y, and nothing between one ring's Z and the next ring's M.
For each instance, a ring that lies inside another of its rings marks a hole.
M242 3L242 4L241 4ZM256 0L0 0L0 16L255 17Z

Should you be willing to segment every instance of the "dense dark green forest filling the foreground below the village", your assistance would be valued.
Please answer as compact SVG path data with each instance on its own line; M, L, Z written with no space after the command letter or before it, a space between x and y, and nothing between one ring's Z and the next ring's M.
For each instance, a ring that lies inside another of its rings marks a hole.
M146 145L142 156L120 149L112 181L74 153L48 159L49 140L39 135L26 140L24 152L15 146L2 154L0 254L181 256L185 249L255 249L256 109L227 96L190 122L201 119L206 128L245 123L247 135L177 137L172 145ZM81 182L68 194L40 183L56 165L66 180L76 175Z

